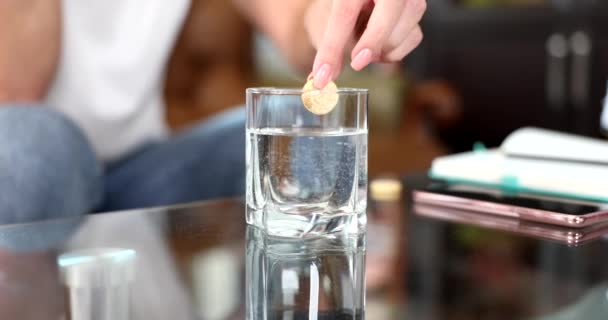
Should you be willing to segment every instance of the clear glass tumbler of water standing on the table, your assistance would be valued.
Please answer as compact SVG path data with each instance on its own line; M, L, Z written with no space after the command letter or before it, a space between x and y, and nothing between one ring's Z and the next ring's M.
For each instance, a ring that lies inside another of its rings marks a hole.
M317 115L300 89L247 89L247 223L271 235L359 233L367 206L367 90Z

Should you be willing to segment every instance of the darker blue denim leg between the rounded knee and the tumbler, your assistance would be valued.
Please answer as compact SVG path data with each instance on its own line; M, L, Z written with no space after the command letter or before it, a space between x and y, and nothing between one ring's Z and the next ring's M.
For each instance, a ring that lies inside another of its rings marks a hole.
M100 211L240 196L245 191L245 109L210 118L111 164Z

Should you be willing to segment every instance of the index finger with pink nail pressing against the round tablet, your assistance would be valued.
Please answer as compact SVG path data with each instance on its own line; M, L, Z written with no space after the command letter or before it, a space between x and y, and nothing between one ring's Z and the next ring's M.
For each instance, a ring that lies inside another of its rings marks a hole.
M316 88L324 88L342 69L344 49L353 34L364 3L364 0L333 1L311 74Z

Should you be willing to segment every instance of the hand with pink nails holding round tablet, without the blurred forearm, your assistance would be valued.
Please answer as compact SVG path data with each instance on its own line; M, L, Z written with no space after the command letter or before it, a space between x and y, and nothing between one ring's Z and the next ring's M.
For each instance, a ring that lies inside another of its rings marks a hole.
M340 75L347 51L357 71L372 62L400 61L422 41L418 23L425 10L426 0L313 0L305 13L317 48L309 78L324 88Z

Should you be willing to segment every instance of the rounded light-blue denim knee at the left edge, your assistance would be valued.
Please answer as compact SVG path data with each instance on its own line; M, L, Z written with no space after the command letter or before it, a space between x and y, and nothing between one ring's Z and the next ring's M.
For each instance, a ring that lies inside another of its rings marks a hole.
M101 195L91 145L43 106L0 107L0 223L82 214Z

